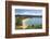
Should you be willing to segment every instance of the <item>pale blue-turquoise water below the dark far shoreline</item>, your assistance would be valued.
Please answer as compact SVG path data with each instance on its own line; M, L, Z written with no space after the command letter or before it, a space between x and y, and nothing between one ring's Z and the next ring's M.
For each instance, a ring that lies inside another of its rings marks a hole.
M42 24L42 17L33 17L28 18L28 21L25 21L26 25L36 25L36 24Z

